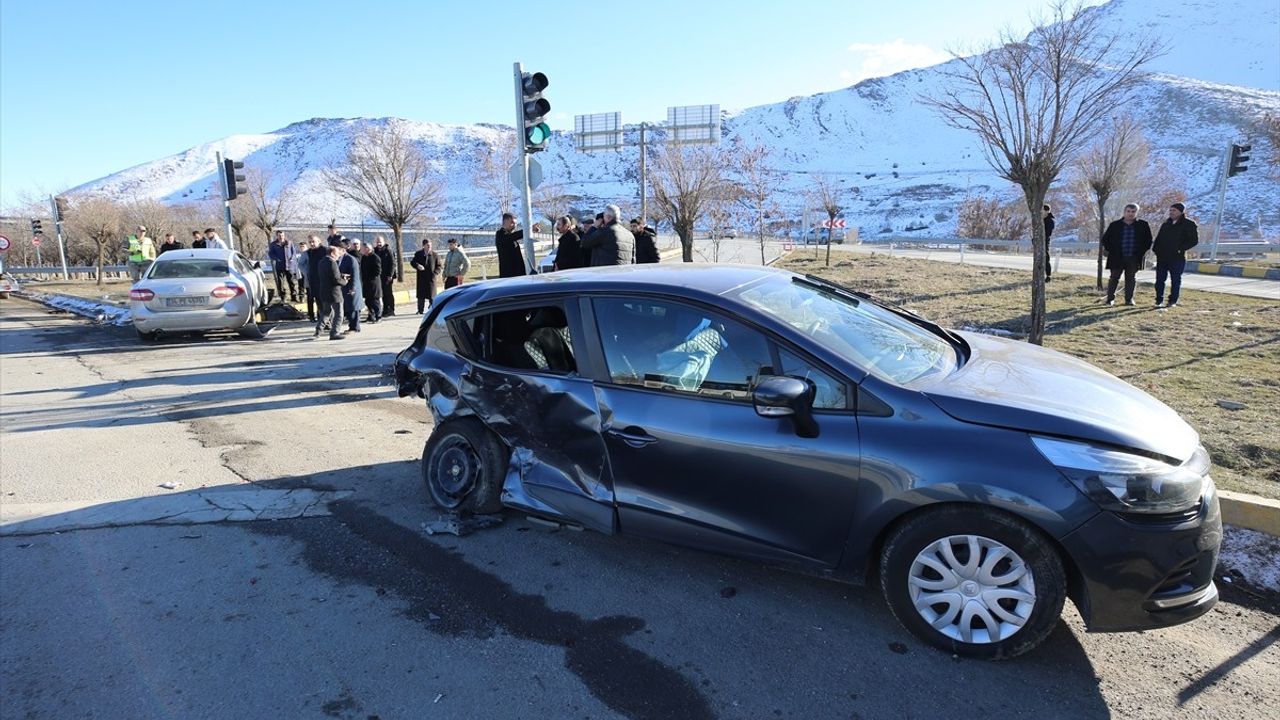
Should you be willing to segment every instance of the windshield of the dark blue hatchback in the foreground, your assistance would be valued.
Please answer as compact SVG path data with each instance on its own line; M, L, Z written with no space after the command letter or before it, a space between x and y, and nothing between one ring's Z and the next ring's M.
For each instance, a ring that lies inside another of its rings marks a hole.
M786 277L750 286L737 297L881 379L906 384L956 368L950 342L874 302Z

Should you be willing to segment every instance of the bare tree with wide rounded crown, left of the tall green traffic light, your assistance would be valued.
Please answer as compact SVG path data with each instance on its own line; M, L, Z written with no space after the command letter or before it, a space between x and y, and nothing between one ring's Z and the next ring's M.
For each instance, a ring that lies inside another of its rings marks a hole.
M396 236L396 277L404 279L404 225L438 209L444 182L398 120L370 127L351 143L344 163L324 170L333 191L387 223Z

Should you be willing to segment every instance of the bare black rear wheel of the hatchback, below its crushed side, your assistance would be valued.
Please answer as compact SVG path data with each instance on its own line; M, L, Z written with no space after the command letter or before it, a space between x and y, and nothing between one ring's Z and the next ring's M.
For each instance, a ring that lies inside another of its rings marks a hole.
M502 510L509 460L511 451L480 420L448 420L422 448L422 482L440 510L493 514Z

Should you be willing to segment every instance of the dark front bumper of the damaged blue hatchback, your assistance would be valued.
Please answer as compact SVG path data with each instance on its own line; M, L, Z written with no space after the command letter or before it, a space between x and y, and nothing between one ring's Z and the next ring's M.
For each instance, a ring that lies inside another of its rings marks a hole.
M1076 606L1091 632L1166 628L1217 603L1222 516L1212 480L1189 518L1101 512L1062 538L1080 574Z

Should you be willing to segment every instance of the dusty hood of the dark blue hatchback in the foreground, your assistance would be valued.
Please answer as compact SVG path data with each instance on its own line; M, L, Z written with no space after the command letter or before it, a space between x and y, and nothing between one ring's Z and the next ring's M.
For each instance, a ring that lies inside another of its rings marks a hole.
M923 388L968 423L1074 437L1185 461L1199 434L1146 392L1070 355L1036 345L959 333L969 363Z

